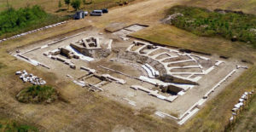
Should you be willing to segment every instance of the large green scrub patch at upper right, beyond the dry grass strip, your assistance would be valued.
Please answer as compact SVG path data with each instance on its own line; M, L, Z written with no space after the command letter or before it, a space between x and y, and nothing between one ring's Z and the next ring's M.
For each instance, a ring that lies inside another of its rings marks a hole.
M167 12L168 23L199 36L220 36L256 47L256 16L241 11L216 9L214 12L187 6L175 6Z

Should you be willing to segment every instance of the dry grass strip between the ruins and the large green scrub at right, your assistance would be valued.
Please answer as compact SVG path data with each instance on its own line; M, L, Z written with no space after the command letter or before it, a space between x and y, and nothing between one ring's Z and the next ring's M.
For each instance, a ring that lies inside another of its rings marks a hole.
M140 32L135 32L131 36L180 49L223 55L250 62L253 62L256 57L256 50L246 43L232 43L218 37L198 37L177 27L163 24L151 26Z

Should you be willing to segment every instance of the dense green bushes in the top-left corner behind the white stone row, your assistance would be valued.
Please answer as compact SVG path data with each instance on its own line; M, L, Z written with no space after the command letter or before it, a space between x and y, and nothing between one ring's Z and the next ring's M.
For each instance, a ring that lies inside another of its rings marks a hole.
M64 17L47 14L38 5L17 10L9 8L0 13L0 37L3 37L3 35L9 37L20 32L27 32L64 19Z

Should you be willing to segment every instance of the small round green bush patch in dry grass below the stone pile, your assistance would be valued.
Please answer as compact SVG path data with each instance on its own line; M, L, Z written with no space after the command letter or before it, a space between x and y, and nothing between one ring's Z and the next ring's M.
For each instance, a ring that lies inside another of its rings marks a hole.
M49 86L33 85L22 89L16 99L23 103L53 102L58 99L58 92Z

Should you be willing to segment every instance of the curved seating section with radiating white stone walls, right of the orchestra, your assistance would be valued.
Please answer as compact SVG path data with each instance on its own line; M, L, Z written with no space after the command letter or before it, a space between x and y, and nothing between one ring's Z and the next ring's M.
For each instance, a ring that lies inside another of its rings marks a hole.
M134 41L126 51L158 61L165 67L167 75L192 82L198 82L203 75L214 69L214 64L207 57L182 53L177 49L168 49L151 43Z

